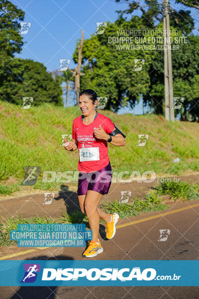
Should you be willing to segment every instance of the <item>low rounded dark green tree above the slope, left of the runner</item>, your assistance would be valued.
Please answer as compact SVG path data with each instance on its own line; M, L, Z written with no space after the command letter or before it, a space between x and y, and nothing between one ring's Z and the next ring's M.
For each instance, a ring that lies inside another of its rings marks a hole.
M57 77L53 78L40 62L13 58L0 86L0 98L21 105L23 97L32 97L32 105L54 103L62 106L62 89Z

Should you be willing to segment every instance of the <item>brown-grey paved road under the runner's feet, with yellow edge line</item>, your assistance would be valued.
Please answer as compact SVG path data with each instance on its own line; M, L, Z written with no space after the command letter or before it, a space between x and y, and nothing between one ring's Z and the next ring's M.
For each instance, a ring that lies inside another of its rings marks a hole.
M103 227L102 227L103 228ZM159 230L167 241L158 242ZM163 212L122 219L112 240L102 240L104 252L93 260L199 259L199 200L174 203ZM101 236L103 237L103 229ZM1 259L82 260L82 248L46 248L18 256L27 248L7 248ZM31 250L31 249L30 249ZM199 287L0 287L0 299L199 299Z

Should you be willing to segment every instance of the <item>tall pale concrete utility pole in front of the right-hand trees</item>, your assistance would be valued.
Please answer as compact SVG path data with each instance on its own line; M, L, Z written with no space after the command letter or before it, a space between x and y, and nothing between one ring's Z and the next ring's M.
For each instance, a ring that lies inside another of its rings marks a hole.
M169 3L163 0L164 6L164 78L165 78L165 119L175 121L174 117L174 94L173 94L173 76L171 60L170 43L170 25L169 25Z

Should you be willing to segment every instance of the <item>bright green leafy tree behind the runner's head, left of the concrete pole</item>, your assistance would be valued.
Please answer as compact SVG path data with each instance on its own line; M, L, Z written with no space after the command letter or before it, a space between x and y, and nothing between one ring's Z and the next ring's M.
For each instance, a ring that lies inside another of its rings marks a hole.
M130 21L120 17L116 22L107 24L105 34L92 35L84 41L82 50L81 89L91 88L99 97L107 97L106 109L117 111L127 103L134 107L141 95L149 88L148 57L149 51L141 52L116 50L114 44L107 42L107 37L116 33L118 28L143 27L142 20L136 16ZM78 61L78 47L73 55ZM142 71L133 71L134 59L144 59Z

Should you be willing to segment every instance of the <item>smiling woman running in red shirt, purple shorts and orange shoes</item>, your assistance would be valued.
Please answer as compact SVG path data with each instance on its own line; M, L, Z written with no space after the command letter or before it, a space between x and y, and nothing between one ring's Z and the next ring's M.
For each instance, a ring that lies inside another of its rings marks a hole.
M115 225L119 219L117 213L106 214L98 207L103 194L107 194L111 184L111 165L108 157L107 142L113 146L125 145L125 135L111 120L96 111L97 93L86 89L80 93L79 107L82 116L73 121L73 138L65 149L79 149L78 162L78 200L83 213L88 216L93 239L84 251L83 257L95 257L103 252L100 244L100 219L106 222L106 238L115 235ZM66 140L65 140L66 142Z

